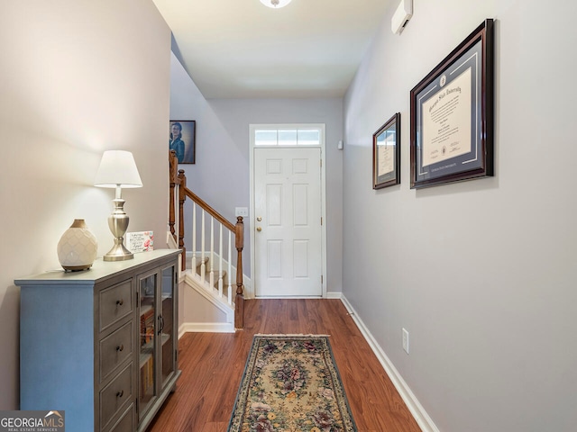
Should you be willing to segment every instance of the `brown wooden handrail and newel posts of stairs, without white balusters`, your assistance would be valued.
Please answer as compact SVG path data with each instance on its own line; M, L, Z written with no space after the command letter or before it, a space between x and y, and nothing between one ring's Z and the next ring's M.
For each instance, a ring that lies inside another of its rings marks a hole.
M179 186L179 235L174 228L176 223L176 188ZM243 296L243 248L244 248L244 222L243 217L239 216L236 218L236 224L233 224L229 220L224 219L224 217L215 211L210 205L208 205L204 200L202 200L196 193L193 193L187 187L187 176L183 169L179 169L179 159L177 157L175 150L169 150L169 192L170 192L170 202L169 202L169 229L172 237L177 241L179 248L182 250L181 263L182 269L186 269L186 247L184 246L184 234L185 234L185 224L184 224L184 203L187 198L196 202L197 205L208 214L210 214L215 220L218 220L226 229L234 232L234 247L236 248L236 295L234 298L234 328L243 329L244 327L244 296ZM221 251L222 253L222 251ZM212 277L212 276L211 276Z

